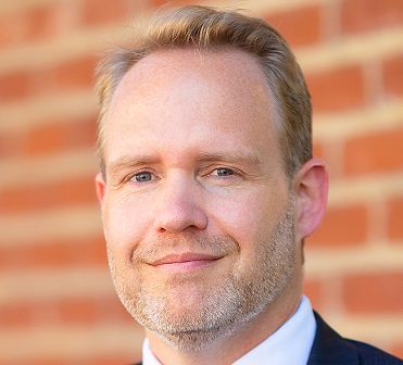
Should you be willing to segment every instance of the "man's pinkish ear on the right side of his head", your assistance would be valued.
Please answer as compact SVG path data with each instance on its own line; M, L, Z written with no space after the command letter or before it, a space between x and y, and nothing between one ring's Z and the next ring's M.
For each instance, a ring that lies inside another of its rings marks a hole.
M326 210L328 171L325 162L311 159L294 177L297 198L295 231L299 241L319 226Z

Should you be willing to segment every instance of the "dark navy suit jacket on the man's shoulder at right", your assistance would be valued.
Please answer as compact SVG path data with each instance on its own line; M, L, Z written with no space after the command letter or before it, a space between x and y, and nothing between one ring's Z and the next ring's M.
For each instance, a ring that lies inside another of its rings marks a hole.
M402 360L369 344L343 339L316 312L315 318L316 335L306 365L403 365Z

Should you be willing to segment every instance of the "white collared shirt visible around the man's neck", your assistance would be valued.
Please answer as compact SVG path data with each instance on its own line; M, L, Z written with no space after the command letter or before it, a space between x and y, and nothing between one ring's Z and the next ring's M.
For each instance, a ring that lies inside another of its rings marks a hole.
M291 318L232 365L306 365L315 333L316 320L311 302L303 295ZM151 352L148 339L142 345L142 364L161 365Z

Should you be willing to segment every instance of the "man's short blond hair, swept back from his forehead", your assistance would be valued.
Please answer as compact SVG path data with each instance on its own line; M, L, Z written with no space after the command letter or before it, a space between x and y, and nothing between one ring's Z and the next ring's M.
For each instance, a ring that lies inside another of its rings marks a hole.
M97 68L100 104L98 148L104 173L104 119L113 93L139 60L156 50L231 47L254 56L261 64L275 99L280 149L287 175L292 178L312 158L311 97L295 58L285 38L265 21L237 11L188 5L158 13L149 29L130 48L119 48Z

